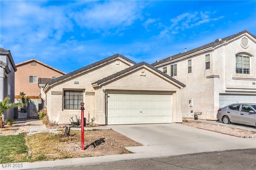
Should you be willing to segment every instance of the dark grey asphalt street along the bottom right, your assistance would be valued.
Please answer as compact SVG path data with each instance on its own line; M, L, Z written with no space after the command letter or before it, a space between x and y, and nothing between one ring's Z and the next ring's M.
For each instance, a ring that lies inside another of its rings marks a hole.
M256 149L205 152L51 170L255 170Z

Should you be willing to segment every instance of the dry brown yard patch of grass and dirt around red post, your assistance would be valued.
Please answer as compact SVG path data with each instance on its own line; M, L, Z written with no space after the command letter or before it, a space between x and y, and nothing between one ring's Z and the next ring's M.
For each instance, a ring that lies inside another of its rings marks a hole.
M116 131L98 130L84 132L85 150L82 150L81 131L70 130L70 134L69 137L64 137L64 131L60 131L27 136L32 152L29 161L126 154L130 151L124 147L142 146Z

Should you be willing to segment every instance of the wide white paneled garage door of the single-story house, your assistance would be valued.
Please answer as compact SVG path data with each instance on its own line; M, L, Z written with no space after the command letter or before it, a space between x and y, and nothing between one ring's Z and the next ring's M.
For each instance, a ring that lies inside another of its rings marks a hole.
M108 94L108 125L172 123L172 95Z

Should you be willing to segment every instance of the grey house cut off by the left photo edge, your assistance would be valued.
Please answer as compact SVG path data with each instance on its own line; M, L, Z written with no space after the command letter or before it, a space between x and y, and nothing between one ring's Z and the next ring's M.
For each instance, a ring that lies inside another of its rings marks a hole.
M14 103L14 72L16 70L10 50L0 47L0 101L8 96L9 103ZM14 109L8 109L4 113L4 119L13 117Z

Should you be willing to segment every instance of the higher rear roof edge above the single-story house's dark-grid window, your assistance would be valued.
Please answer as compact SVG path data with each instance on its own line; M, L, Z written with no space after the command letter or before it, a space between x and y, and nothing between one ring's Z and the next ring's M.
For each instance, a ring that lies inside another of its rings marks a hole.
M83 68L80 68L80 69L78 69L78 70L75 70L75 71L73 71L73 72L70 72L70 73L68 73L68 74L66 74L66 75L64 75L64 76L60 76L60 77L58 77L58 78L54 78L54 79L52 79L50 82L48 82L48 85L51 85L51 84L54 83L54 82L57 82L57 81L59 81L59 80L62 80L63 78L67 78L67 77L69 77L69 76L72 76L72 75L74 75L74 74L76 74L76 73L78 73L78 72L82 72L82 71L88 70L88 69L90 69L90 68L93 68L94 66L98 66L98 65L100 65L100 64L102 64L102 63L104 63L104 62L106 62L106 61L110 61L110 60L112 60L112 59L114 59L114 58L117 58L117 57L121 57L122 59L125 59L126 61L129 61L129 62L132 63L132 64L137 64L137 63L135 63L134 61L128 59L127 57L124 57L123 55L116 54L116 55L112 55L112 56L110 56L110 57L107 57L106 59L103 59L103 60L97 61L97 62L95 62L95 63L92 63L92 64L90 64L90 65L88 65L88 66L83 67Z

